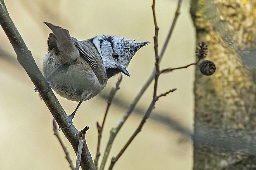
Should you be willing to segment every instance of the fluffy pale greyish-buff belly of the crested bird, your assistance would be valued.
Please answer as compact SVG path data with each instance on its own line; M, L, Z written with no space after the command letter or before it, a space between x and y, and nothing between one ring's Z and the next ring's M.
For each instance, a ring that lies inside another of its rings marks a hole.
M61 66L56 66L49 61L44 64L48 66L43 67L48 67L52 71L57 67L57 70L48 78L52 83L52 89L71 101L89 100L101 92L107 84L107 79L103 83L99 82L88 62L82 58ZM48 70L44 71L45 77L49 75L48 72Z

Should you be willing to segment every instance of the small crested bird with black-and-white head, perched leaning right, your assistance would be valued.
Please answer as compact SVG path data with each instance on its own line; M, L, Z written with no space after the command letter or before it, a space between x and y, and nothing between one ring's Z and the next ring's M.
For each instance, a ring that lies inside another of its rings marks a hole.
M125 37L99 35L79 41L71 37L69 30L44 22L53 33L47 39L47 51L43 59L43 75L60 96L79 101L69 117L66 129L83 101L100 93L109 78L120 72L130 76L126 67L135 53L149 44Z

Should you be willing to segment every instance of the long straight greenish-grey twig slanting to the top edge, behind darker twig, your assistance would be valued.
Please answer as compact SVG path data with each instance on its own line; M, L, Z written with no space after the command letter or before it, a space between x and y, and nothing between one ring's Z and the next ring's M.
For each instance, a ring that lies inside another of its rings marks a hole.
M181 5L182 0L178 1L178 6L177 9L175 11L175 16L173 18L173 22L172 22L172 26L171 29L169 31L168 36L166 37L166 41L164 44L164 47L161 50L161 54L159 55L159 60L161 61L164 55L164 51L166 50L166 46L168 44L169 39L171 38L171 34L173 32L174 26L176 24L177 18L180 14L180 5ZM160 62L159 61L159 62ZM150 83L152 82L152 80L154 80L155 77L155 68L153 69L152 73L150 74L149 78L147 79L147 81L145 82L145 84L142 86L141 90L138 92L138 94L135 96L135 98L133 99L132 103L130 104L130 106L128 107L128 109L126 110L126 113L124 114L123 118L120 120L119 124L116 126L116 128L113 128L110 132L110 137L109 137L109 141L107 143L107 147L105 149L104 152L104 156L102 159L102 163L100 166L100 170L103 170L105 167L105 164L107 162L107 158L109 156L109 152L111 150L111 147L113 145L114 139L116 138L116 135L118 134L118 132L120 131L121 127L123 126L123 124L126 122L126 120L128 119L128 117L130 116L130 114L133 112L133 109L135 108L136 104L138 103L138 101L140 100L141 96L144 94L144 92L147 90L147 88L149 87Z

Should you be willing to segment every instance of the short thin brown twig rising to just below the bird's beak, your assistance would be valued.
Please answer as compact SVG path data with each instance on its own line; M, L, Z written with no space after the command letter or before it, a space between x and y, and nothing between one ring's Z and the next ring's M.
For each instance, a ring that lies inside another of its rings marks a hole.
M100 126L100 123L97 122L98 145L97 145L96 157L95 157L95 160L94 160L94 165L95 165L96 170L98 169L98 161L99 161L99 157L100 157L100 142L101 142L103 127L104 127L104 124L105 124L107 113L109 112L109 108L110 108L111 103L112 103L112 101L114 99L114 96L115 96L117 90L120 89L119 85L120 85L122 79L123 79L123 76L122 76L122 74L120 74L120 76L119 76L119 78L118 78L118 80L116 82L116 87L115 88L114 87L111 88L111 91L109 93L109 99L107 101L107 109L106 109L106 112L105 112L105 115L104 115L104 119L102 121L102 126Z

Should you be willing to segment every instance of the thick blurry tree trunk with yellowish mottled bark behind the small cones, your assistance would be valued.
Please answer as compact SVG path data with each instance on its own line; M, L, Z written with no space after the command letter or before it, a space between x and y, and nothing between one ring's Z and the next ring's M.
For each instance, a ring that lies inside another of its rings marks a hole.
M190 13L216 65L196 69L193 169L256 170L256 1L192 0Z

